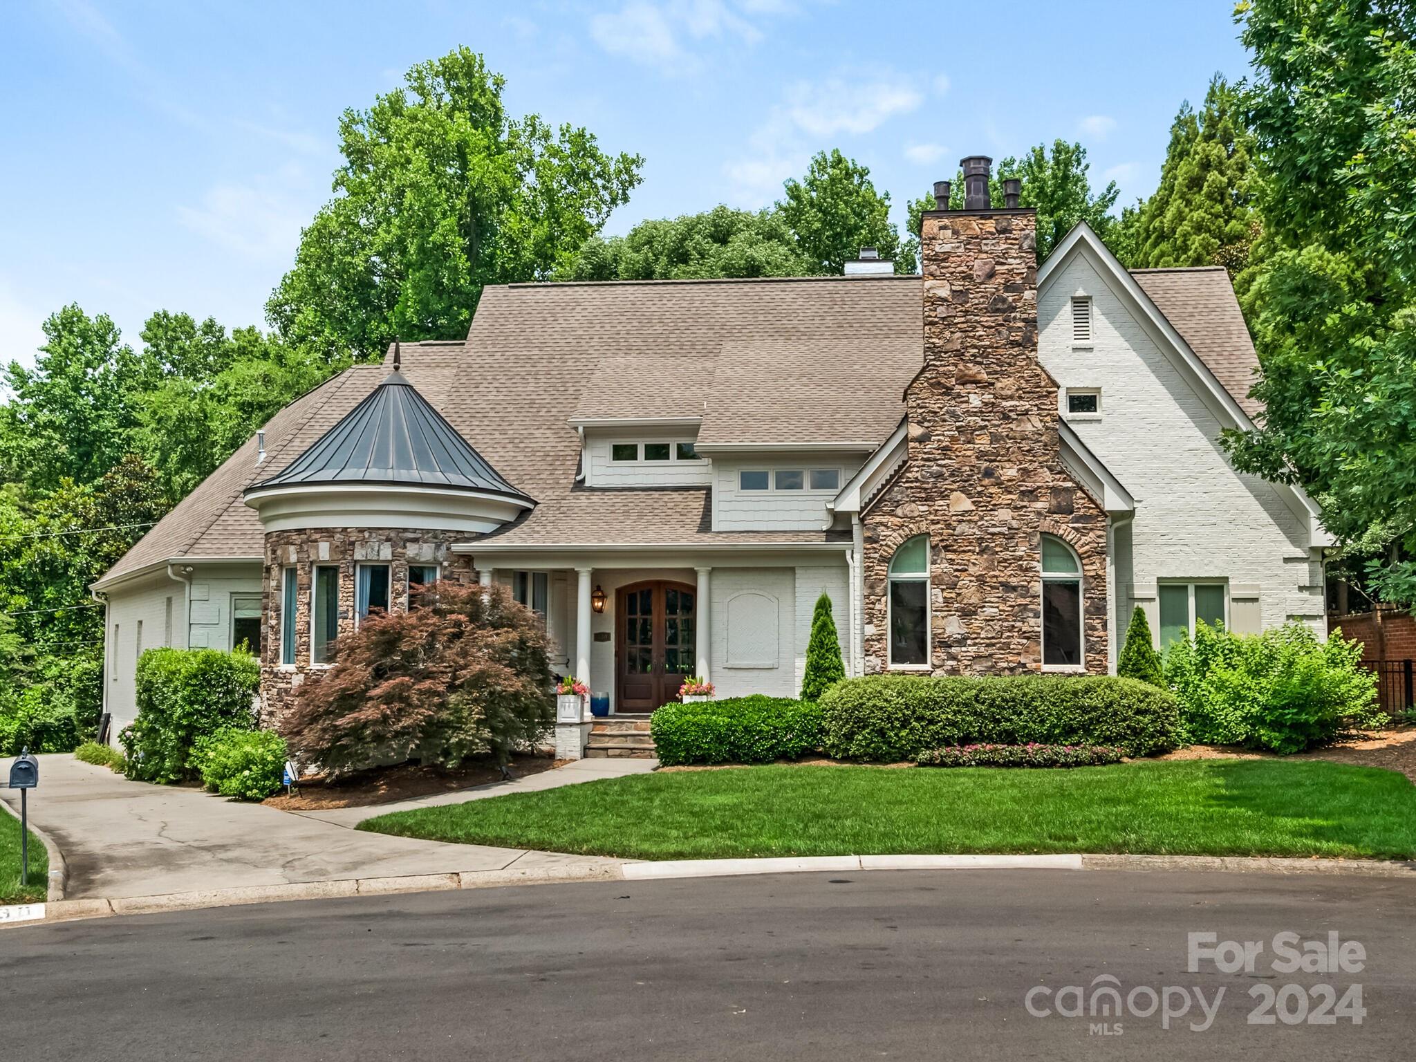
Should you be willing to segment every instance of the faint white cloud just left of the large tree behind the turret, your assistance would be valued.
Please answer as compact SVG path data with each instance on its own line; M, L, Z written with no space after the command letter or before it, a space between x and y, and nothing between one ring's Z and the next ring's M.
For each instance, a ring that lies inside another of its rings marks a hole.
M275 176L215 184L201 197L201 205L178 205L177 217L193 232L244 258L287 265L300 229L313 215L312 207L295 194L302 184L303 171L285 166Z

